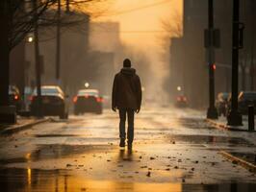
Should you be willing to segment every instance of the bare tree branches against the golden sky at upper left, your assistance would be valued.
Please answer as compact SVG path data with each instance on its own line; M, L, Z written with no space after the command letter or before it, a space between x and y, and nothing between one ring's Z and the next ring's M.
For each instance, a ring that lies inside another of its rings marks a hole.
M57 16L57 0L38 0L38 7L32 6L34 0L10 0L10 50L28 34L33 33L35 23L39 29L49 29L60 23L61 27L82 26L89 15L99 15L104 8L102 3L111 0L69 0L70 10L65 12L66 0L61 2L61 17ZM98 6L97 6L98 5ZM82 28L81 28L82 29ZM81 30L83 31L83 30Z

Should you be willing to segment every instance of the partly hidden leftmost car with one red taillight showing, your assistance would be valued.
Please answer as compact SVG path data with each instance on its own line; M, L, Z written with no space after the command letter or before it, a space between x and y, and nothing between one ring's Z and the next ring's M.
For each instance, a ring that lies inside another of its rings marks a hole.
M11 106L14 106L16 108L16 111L21 109L21 95L15 85L9 85L9 103Z

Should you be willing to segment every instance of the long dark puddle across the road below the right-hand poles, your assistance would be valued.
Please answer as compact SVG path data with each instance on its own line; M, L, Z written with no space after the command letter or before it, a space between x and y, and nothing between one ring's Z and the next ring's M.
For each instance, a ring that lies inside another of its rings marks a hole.
M175 134L169 135L170 141L176 143L192 143L192 144L225 144L229 147L252 147L251 142L241 137L218 136L218 135L192 135L192 134Z

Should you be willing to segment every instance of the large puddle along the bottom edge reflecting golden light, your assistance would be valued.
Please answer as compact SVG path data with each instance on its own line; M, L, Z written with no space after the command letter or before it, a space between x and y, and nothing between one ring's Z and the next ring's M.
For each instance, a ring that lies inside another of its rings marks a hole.
M107 178L107 176L106 176ZM136 182L119 180L90 180L83 175L73 175L66 170L0 169L1 191L111 191L111 192L255 192L256 183L188 184L182 182Z

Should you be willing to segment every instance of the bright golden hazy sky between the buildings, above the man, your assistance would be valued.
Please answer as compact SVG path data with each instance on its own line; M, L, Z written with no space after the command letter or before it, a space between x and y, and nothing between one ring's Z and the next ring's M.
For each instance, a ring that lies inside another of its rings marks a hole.
M177 14L181 16L182 7L183 0L113 0L105 13L107 16L97 19L119 22L121 41L144 53L149 60L148 67L153 71L147 96L149 92L153 95L162 92L161 97L157 97L161 102L167 101L163 84L169 74L169 38L163 38L166 34L163 33L162 20L171 21Z

